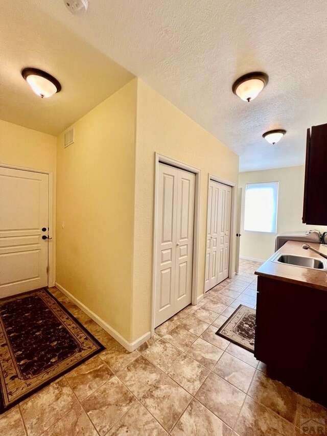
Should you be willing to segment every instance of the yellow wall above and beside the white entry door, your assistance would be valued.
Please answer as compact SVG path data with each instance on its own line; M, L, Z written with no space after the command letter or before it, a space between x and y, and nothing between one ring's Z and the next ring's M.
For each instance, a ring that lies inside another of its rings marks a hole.
M0 120L0 163L53 174L53 264L49 267L55 271L56 137Z

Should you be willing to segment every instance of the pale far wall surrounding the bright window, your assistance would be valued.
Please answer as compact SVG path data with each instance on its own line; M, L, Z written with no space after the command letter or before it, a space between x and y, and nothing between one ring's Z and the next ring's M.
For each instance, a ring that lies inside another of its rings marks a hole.
M303 189L305 167L288 167L273 170L240 173L239 187L242 188L242 219L240 255L254 259L268 259L274 253L275 234L245 232L244 202L246 183L278 181L277 234L303 232L326 227L302 224Z

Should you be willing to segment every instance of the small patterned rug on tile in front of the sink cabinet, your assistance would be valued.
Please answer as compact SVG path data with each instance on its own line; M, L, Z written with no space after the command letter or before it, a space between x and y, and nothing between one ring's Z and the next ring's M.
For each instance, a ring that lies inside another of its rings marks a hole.
M255 309L240 306L229 316L216 335L254 353Z

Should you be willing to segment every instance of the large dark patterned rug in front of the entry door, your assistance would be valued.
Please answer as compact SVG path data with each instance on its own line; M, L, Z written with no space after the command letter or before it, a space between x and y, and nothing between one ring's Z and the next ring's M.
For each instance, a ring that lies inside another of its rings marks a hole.
M0 413L102 350L47 290L1 299Z

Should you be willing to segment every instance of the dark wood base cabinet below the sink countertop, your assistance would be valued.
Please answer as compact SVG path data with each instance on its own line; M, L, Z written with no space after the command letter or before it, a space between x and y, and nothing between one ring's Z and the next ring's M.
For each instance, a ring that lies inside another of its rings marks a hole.
M259 276L254 356L268 377L327 406L326 350L327 291Z

